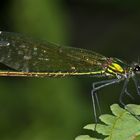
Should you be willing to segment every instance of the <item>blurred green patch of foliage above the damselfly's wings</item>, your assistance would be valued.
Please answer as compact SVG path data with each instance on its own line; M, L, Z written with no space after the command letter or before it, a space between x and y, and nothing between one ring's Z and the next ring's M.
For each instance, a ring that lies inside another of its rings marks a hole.
M68 39L69 18L60 2L61 0L14 0L10 11L14 28L37 38L64 43Z

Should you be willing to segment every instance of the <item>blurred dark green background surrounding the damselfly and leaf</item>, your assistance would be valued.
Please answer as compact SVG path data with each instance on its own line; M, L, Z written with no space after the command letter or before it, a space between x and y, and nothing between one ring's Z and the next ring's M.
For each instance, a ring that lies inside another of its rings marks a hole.
M138 60L140 4L129 0L1 0L0 30ZM73 140L93 122L93 77L0 77L0 140ZM99 92L103 113L122 83Z

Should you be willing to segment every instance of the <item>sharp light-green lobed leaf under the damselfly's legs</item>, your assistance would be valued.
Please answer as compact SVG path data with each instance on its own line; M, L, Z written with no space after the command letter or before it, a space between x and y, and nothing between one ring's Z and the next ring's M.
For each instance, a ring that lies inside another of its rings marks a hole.
M96 131L105 136L104 140L139 140L140 105L129 104L125 109L118 104L111 106L113 115L104 114L99 119L104 124L88 124L84 129ZM75 140L101 140L88 135L78 136Z

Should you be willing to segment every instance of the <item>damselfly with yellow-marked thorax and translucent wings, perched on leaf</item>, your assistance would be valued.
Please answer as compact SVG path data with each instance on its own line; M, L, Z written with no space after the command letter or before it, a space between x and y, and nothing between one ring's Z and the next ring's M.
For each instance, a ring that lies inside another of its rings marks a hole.
M32 38L9 32L0 32L0 76L27 77L64 77L64 76L99 76L109 80L93 83L92 101L96 118L95 99L99 107L96 91L124 80L120 95L129 92L127 85L132 78L140 95L140 87L136 74L140 65L129 65L118 58L105 57L93 51L72 47L63 47L49 42L37 41ZM8 68L8 70L7 70Z

